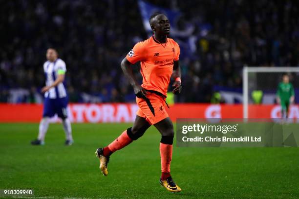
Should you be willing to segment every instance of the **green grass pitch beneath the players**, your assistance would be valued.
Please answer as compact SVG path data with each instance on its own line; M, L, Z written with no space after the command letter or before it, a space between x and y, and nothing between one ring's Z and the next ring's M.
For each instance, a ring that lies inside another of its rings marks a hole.
M75 144L64 146L51 124L44 146L31 146L38 124L0 124L0 189L32 188L35 197L96 199L299 198L298 148L173 148L171 174L183 189L159 185L159 133L151 127L111 156L109 175L95 149L129 124L73 124Z

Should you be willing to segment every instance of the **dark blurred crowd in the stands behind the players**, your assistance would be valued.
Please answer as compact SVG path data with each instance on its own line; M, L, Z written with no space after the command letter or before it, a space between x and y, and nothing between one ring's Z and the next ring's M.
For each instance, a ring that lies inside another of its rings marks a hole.
M292 0L150 2L180 10L178 26L194 27L195 50L180 59L176 101L210 102L215 85L240 88L244 65L299 66L299 6ZM48 47L66 62L71 102L135 100L120 62L148 38L138 1L15 0L1 3L0 12L0 102L43 100Z

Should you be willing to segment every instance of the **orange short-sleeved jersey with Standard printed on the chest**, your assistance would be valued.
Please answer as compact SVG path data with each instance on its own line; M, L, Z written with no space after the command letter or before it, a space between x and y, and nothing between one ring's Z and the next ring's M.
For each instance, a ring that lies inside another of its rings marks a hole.
M179 55L180 47L174 40L167 38L167 42L161 44L154 37L150 37L136 43L126 58L132 64L140 61L143 88L166 96L173 61L179 60Z

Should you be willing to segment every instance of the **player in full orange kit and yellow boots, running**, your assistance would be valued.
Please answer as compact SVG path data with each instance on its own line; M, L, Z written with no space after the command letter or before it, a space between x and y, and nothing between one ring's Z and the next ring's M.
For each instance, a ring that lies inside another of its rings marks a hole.
M175 80L172 87L174 94L181 92L181 71L179 67L179 45L167 36L170 33L168 18L155 13L149 19L153 36L135 44L121 63L121 68L134 88L139 109L132 127L125 130L117 139L104 148L98 148L96 156L100 159L100 169L107 176L107 163L110 155L140 138L149 126L154 125L161 133L160 142L161 170L160 183L168 191L180 192L170 174L172 157L173 125L166 110L167 88L171 77ZM132 64L140 61L143 77L139 85L133 72Z

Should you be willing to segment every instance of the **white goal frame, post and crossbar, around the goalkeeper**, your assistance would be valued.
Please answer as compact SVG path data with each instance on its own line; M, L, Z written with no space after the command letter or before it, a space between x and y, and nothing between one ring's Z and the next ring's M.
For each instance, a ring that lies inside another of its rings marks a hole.
M248 118L248 73L299 73L299 67L243 67L243 118Z

